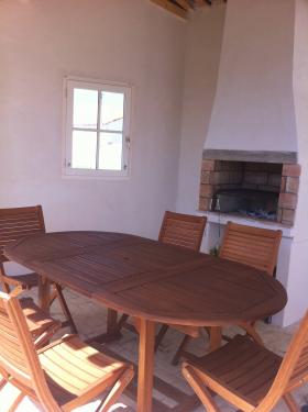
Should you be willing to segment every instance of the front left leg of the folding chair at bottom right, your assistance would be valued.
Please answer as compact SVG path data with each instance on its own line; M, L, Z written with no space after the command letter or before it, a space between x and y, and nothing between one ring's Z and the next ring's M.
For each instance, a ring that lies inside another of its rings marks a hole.
M189 365L187 364L183 365L182 374L184 378L187 380L187 382L195 390L197 397L200 399L200 401L205 405L207 412L220 412L218 405L215 403L210 394L210 391L201 381L201 379L195 374L195 371Z

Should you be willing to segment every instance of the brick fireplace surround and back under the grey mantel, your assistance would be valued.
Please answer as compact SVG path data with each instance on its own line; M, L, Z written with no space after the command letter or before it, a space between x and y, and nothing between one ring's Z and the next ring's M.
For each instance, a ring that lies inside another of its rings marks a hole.
M273 221L292 226L295 220L300 166L262 162L204 159L200 177L199 209L213 211L217 193L233 196L270 193L276 199ZM260 218L255 218L260 219Z

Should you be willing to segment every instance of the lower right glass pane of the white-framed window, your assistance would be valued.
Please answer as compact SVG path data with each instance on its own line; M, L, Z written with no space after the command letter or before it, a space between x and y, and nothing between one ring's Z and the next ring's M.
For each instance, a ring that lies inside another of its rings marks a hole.
M99 168L122 169L122 134L101 133L99 142Z

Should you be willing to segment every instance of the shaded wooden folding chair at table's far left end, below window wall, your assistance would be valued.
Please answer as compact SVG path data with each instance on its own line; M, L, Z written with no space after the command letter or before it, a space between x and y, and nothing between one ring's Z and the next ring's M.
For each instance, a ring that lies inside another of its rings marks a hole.
M11 288L21 287L30 290L38 285L37 274L26 274L20 276L9 276L4 271L4 263L8 261L3 254L4 247L10 243L40 233L45 233L45 223L41 205L28 208L0 209L0 283L7 293ZM77 333L76 325L64 299L62 287L53 283L51 304L57 298L66 318L63 326L70 326L73 333Z

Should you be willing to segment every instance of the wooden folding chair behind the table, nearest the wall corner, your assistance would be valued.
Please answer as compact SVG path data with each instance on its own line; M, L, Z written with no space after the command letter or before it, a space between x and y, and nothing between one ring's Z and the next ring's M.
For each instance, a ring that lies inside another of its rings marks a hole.
M162 222L158 241L169 245L182 246L195 252L199 252L202 243L206 224L206 216L196 216L191 214L183 214L166 211ZM120 329L124 326L129 330L132 330L132 325L127 323L127 319L128 315L122 315L119 322L119 326ZM138 326L136 322L135 326ZM198 337L200 335L200 327L166 324L163 325L155 339L155 350L157 350L169 326L176 329L182 333L185 333L186 335L183 338L173 359L173 364L177 364L179 357L183 355L185 350L189 337Z

